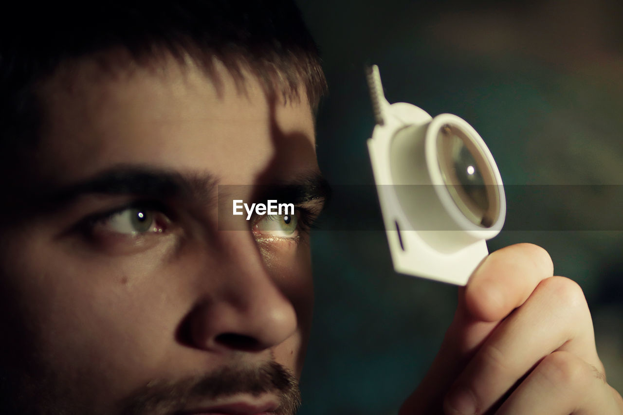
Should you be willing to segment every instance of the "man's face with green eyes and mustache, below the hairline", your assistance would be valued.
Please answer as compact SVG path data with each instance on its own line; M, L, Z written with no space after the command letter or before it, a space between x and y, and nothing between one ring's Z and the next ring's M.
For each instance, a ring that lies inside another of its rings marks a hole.
M1 236L9 399L40 413L247 414L295 396L307 232L231 207L224 227L218 193L250 204L262 184L317 175L312 112L304 94L283 104L250 75L244 86L171 60L83 62L42 87L30 204ZM246 186L217 186L231 184Z

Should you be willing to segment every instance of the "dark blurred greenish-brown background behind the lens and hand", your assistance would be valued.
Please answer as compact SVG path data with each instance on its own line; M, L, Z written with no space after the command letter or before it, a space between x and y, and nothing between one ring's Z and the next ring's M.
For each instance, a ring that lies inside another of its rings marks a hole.
M503 231L488 246L539 244L556 274L581 284L609 383L623 391L623 232L592 227L597 217L621 217L621 198L595 185L623 184L623 2L298 4L330 87L318 157L332 184L373 183L364 66L378 64L389 102L474 126L505 184L582 185L554 201L511 192L508 204L521 207L513 215L542 223ZM361 229L379 229L374 194L361 197L363 205L334 204L326 220L350 212ZM396 413L435 355L456 288L393 272L383 231L320 229L312 239L316 310L300 414Z

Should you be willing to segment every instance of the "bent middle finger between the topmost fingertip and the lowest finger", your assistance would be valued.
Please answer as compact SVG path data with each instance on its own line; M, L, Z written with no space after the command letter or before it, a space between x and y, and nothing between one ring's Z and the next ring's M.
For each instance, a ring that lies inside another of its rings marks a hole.
M445 407L449 413L492 408L555 350L573 353L603 371L584 294L578 284L564 277L543 280L528 300L500 323L452 386Z

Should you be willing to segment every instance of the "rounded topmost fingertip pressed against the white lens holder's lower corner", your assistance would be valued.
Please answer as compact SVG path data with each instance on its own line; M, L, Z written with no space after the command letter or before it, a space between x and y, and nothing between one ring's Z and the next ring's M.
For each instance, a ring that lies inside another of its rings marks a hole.
M547 251L533 244L516 244L490 254L465 288L465 307L473 317L502 320L526 301L541 280L554 275Z

